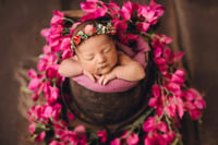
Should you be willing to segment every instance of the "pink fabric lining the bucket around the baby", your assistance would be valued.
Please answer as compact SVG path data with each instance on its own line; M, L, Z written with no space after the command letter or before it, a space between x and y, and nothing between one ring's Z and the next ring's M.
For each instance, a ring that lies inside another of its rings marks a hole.
M118 48L130 56L133 60L138 61L143 68L147 67L145 59L147 59L145 52L149 51L150 48L148 43L144 41L143 38L138 38L136 47L130 48L121 43L116 43ZM130 82L120 78L116 78L110 81L106 86L101 86L98 83L92 82L86 75L78 75L72 77L73 81L77 82L80 85L86 87L87 89L99 92L99 93L118 93L125 92L133 86L135 86L138 82Z

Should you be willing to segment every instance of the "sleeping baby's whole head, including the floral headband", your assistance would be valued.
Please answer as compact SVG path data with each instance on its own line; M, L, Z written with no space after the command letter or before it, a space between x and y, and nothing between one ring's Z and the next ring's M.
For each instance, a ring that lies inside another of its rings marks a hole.
M118 52L110 23L87 21L80 24L72 37L72 45L81 65L92 74L107 74L118 62Z

